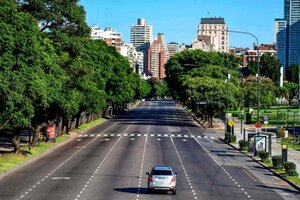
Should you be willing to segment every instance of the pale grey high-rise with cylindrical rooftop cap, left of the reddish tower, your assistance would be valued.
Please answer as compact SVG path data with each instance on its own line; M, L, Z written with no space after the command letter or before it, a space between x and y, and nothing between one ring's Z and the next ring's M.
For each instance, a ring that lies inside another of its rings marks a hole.
M143 53L143 65L139 66L139 71L147 73L148 69L148 49L152 43L152 26L146 20L139 18L137 25L132 25L130 29L130 43L140 53Z

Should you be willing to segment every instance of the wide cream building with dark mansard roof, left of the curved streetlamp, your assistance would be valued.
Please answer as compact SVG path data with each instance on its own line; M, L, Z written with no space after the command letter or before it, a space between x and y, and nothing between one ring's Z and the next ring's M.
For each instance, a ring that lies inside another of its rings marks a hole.
M192 48L205 51L228 52L228 27L224 18L201 18L198 35Z

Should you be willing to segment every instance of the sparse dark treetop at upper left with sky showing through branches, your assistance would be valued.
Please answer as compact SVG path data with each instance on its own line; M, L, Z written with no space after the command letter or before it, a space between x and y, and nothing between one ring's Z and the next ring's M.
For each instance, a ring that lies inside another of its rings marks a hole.
M60 31L69 36L89 36L85 11L79 0L17 0L22 11L39 21L41 32Z

